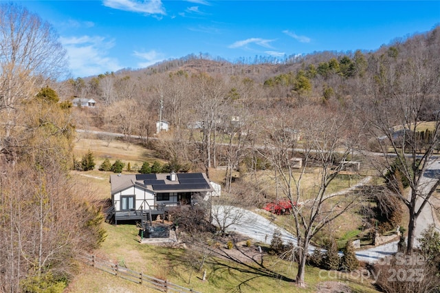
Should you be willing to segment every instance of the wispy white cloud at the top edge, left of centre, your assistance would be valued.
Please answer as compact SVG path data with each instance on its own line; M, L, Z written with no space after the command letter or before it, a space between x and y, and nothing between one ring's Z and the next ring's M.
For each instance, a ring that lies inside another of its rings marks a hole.
M118 10L146 14L166 14L161 0L104 0L102 3L104 6Z

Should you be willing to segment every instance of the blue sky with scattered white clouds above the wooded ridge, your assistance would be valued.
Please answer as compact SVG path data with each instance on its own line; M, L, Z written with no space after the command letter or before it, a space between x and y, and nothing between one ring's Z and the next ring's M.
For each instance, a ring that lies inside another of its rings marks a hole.
M208 53L229 61L376 50L440 24L440 1L17 1L52 23L72 76Z

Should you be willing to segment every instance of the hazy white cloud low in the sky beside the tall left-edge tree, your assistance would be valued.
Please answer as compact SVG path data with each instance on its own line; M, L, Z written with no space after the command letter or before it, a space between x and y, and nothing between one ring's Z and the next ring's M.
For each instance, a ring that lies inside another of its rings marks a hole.
M115 72L122 68L118 60L107 56L114 41L102 36L72 36L60 38L69 56L70 69L75 77Z

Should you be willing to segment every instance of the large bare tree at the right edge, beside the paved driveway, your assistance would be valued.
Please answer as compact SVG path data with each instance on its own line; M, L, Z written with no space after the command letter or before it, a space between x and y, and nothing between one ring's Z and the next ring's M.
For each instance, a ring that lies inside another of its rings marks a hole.
M408 253L415 248L417 217L429 205L439 184L435 175L434 180L424 176L440 143L440 59L435 53L439 45L429 40L430 36L413 40L417 45L405 51L406 56L398 56L395 47L384 52L377 58L375 70L362 87L364 94L357 101L373 137L381 141L382 137L387 138L387 143L378 144L385 160L371 162L394 195L408 207ZM422 126L426 120L431 121L429 127ZM395 158L388 156L390 152ZM400 188L402 179L408 182L409 195Z

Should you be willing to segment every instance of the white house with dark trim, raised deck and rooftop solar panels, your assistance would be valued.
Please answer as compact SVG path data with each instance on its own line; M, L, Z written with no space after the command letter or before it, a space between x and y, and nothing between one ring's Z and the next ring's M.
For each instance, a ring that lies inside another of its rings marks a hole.
M181 204L193 204L195 195L207 199L217 191L205 173L111 175L111 202L115 224L142 221L145 229L157 215Z

